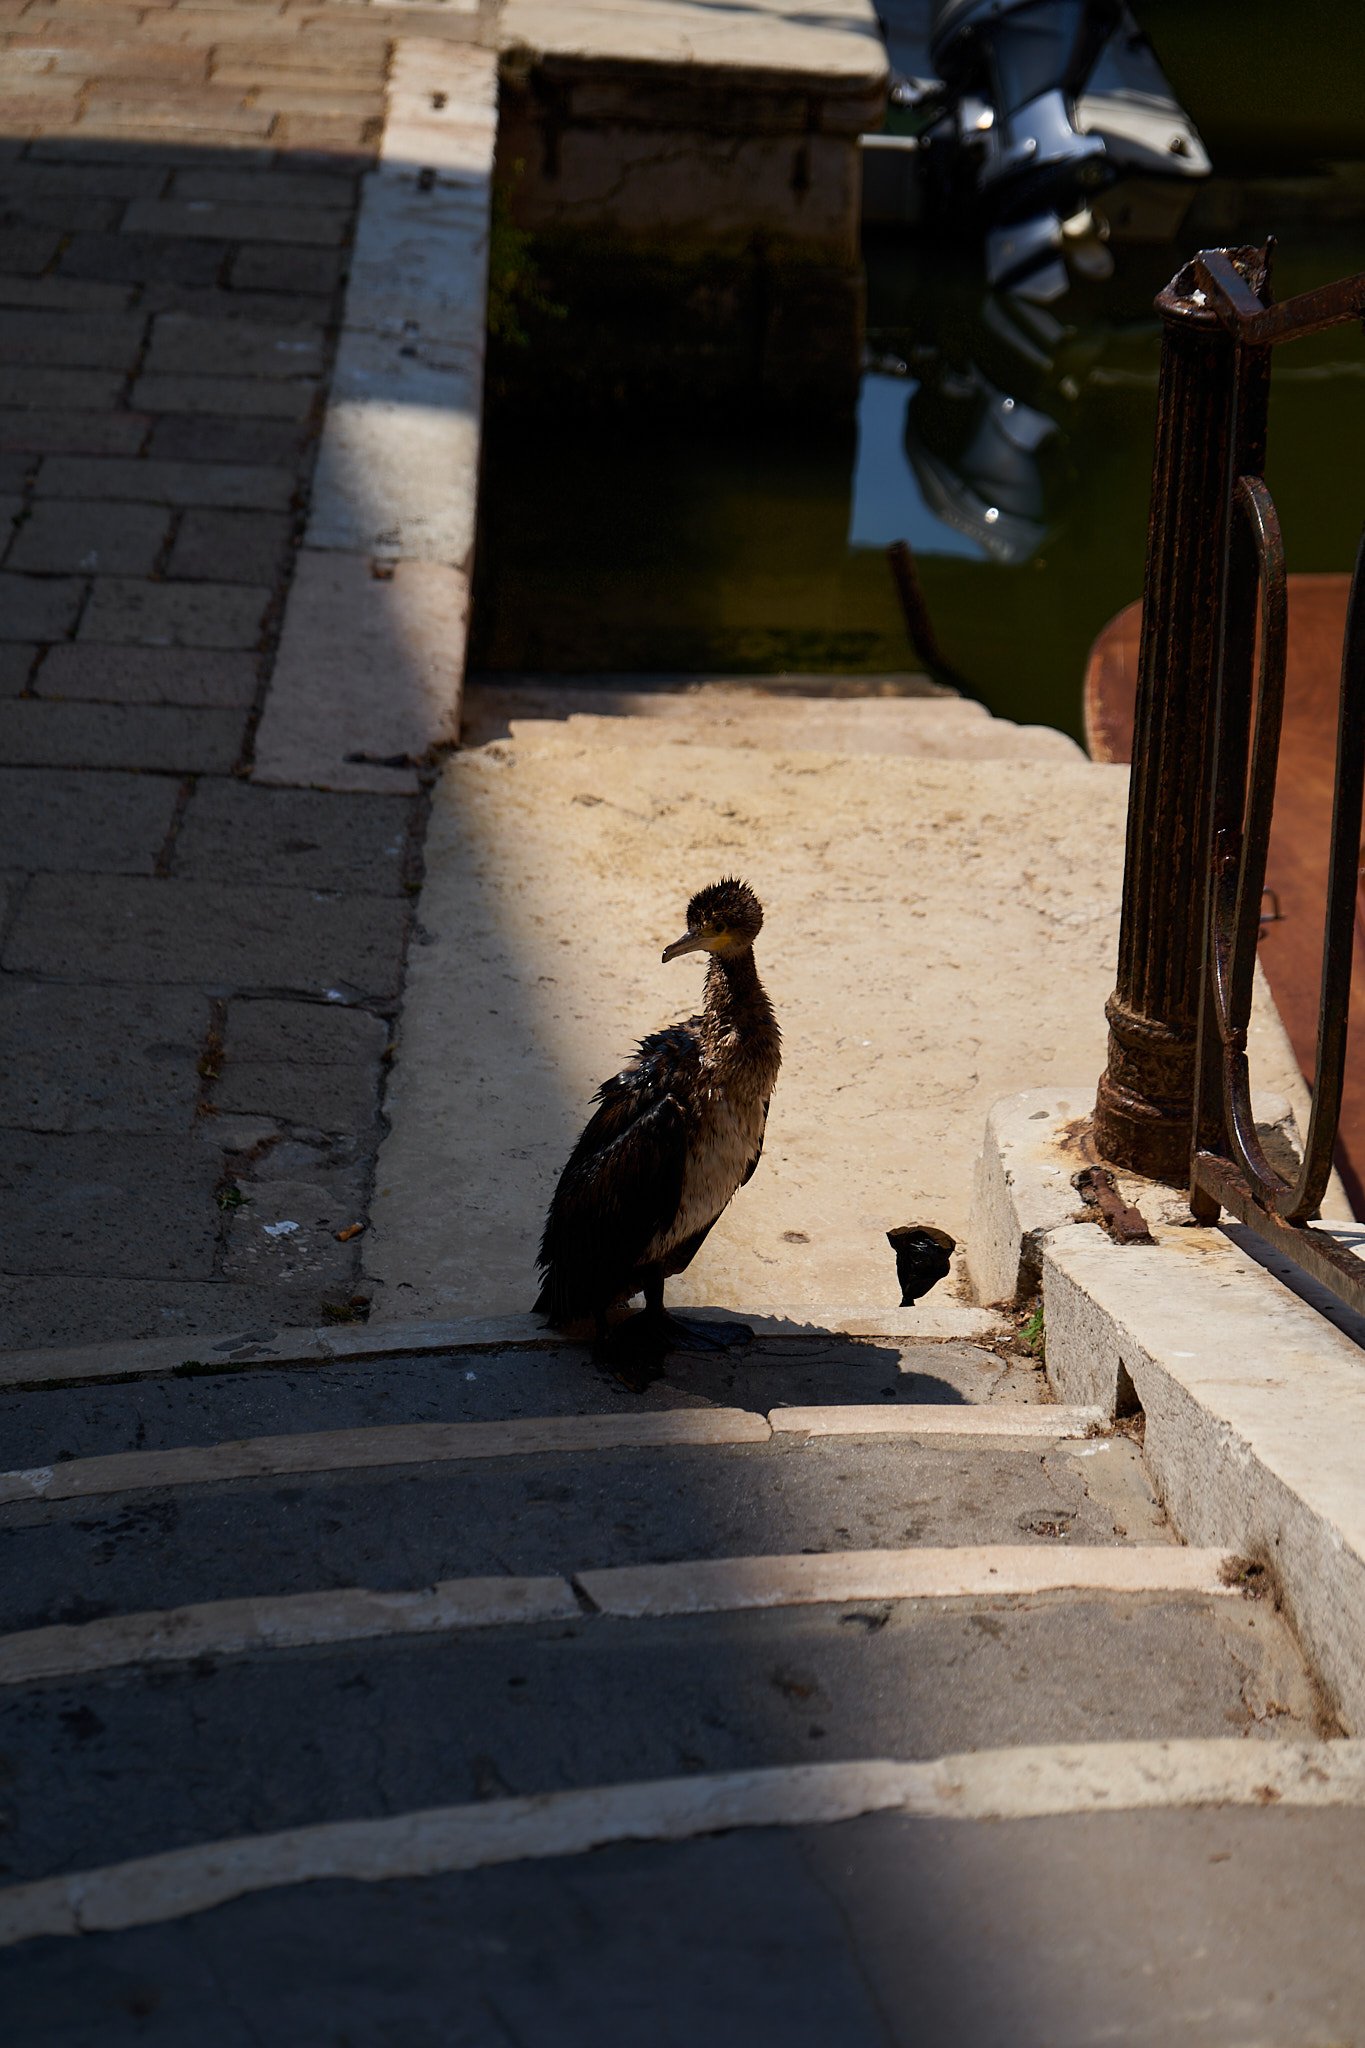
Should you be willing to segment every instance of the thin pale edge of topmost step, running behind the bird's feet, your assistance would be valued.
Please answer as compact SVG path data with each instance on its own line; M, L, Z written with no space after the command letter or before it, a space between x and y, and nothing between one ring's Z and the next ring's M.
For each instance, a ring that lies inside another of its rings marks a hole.
M714 1309L716 1321L739 1311ZM902 1337L921 1343L990 1341L1003 1323L988 1309L823 1311L812 1321L745 1315L755 1337ZM432 1358L446 1352L563 1352L573 1339L532 1315L460 1317L422 1323L356 1323L272 1331L219 1331L207 1337L139 1337L45 1350L0 1352L0 1389L72 1386L88 1380L143 1380L190 1372L239 1372L268 1366L342 1366L379 1358Z

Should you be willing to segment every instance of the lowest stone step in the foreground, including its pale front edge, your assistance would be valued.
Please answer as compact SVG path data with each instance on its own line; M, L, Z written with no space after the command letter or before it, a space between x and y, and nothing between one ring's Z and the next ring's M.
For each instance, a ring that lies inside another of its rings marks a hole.
M1359 1747L956 1753L215 1845L0 1894L4 1939L86 1929L6 1956L6 2015L33 2048L78 2013L141 2048L151 2001L211 2048L301 2009L450 2048L452 2013L458 2048L1138 2048L1173 2013L1191 2048L1334 2042L1365 2009Z

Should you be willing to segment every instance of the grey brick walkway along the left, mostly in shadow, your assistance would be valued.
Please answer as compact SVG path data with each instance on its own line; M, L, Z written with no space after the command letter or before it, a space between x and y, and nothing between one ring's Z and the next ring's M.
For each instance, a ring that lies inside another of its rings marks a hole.
M0 0L4 1346L364 1313L424 801L248 774L395 25Z

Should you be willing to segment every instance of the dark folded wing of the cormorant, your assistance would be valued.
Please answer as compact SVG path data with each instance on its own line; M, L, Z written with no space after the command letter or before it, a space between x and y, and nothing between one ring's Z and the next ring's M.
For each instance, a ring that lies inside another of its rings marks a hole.
M688 1151L688 1087L700 1044L677 1024L641 1042L598 1090L598 1110L559 1178L540 1243L553 1319L610 1303L651 1239L677 1214Z

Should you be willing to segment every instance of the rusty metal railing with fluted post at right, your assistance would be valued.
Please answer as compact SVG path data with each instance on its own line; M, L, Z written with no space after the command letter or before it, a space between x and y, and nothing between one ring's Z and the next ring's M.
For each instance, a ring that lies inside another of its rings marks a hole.
M1246 1028L1285 688L1285 553L1265 485L1269 352L1365 317L1365 274L1271 303L1271 246L1203 250L1164 322L1119 977L1095 1143L1228 1208L1365 1311L1365 1264L1310 1231L1340 1116L1365 797L1365 541L1342 647L1318 1055L1304 1163L1254 1128ZM1257 659L1257 625L1261 653Z

